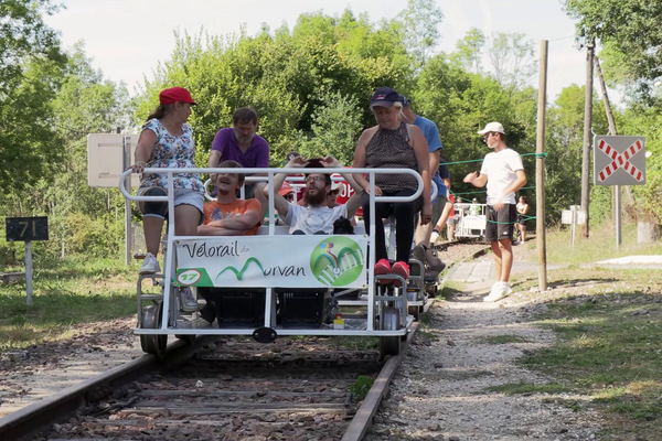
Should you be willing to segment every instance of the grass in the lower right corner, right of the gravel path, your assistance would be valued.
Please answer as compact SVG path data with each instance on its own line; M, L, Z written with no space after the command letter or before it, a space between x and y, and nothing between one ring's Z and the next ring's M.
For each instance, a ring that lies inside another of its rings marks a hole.
M659 270L552 271L552 286L575 286L537 321L559 340L523 361L590 397L591 406L609 415L612 428L605 435L613 439L662 439L660 276Z

